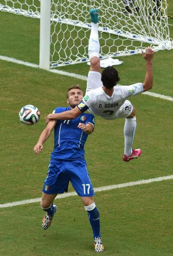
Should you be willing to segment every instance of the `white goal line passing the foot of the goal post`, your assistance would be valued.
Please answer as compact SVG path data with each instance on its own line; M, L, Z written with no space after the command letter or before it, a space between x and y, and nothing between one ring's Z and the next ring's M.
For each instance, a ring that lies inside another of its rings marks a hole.
M29 67L33 67L33 68L39 68L39 66L36 65L36 64L21 61L21 60L16 60L16 59L9 58L9 57L6 57L6 56L1 56L0 55L0 59L10 61L10 62L14 62L14 63L21 64L21 65L25 65L25 66L29 66ZM81 79L81 80L84 80L84 81L87 80L87 76L77 75L75 73L69 73L69 72L65 72L65 71L62 71L62 70L49 69L47 71L52 72L52 73L56 73L56 74L60 74L60 75L63 75L63 76L74 77L74 78ZM153 97L156 97L156 98L160 98L160 99L163 99L163 100L173 101L173 97L158 94L158 93L144 92L143 94L153 96Z

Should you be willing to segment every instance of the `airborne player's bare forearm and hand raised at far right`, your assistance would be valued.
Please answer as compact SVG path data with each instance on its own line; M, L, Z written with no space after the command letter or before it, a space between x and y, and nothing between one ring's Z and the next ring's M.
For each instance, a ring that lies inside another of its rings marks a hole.
M143 58L146 60L146 74L143 83L144 92L153 87L153 56L155 51L151 47L146 47L145 53L142 52Z

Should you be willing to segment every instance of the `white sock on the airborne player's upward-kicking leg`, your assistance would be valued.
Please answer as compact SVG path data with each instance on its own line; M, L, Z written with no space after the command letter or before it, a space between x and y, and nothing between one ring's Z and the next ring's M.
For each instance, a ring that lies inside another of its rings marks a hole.
M98 33L99 23L91 23L91 34L88 45L88 55L91 59L92 57L99 58L100 44L99 44L99 33Z

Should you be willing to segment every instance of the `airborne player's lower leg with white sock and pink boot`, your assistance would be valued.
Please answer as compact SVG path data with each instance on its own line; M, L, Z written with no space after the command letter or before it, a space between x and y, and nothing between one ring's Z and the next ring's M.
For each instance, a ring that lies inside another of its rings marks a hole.
M122 160L129 162L130 160L138 158L142 151L140 149L132 149L132 143L136 131L136 109L126 118L124 125L125 151Z

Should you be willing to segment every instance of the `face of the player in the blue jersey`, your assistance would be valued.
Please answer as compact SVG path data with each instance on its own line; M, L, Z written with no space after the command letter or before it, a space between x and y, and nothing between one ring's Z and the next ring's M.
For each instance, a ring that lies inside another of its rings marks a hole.
M80 89L71 89L68 92L69 98L67 99L67 103L70 105L71 108L75 108L77 106L82 98L83 98L83 93Z

